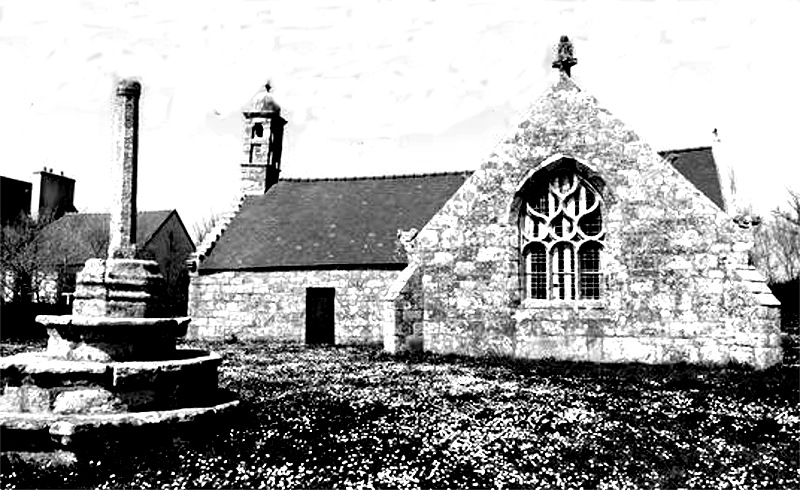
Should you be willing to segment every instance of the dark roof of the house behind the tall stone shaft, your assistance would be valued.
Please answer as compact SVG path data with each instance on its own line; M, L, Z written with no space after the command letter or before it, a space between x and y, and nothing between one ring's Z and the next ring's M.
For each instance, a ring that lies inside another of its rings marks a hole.
M144 246L175 211L142 211L137 214L136 243ZM46 257L67 265L83 264L108 253L108 213L65 214L42 230ZM100 250L100 249L103 250Z

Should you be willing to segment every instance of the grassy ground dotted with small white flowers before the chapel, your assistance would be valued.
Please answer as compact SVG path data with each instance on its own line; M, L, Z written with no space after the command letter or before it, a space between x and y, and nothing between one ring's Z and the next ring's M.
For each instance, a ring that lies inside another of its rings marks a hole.
M204 346L225 355L235 417L124 457L2 468L2 487L800 487L796 366Z

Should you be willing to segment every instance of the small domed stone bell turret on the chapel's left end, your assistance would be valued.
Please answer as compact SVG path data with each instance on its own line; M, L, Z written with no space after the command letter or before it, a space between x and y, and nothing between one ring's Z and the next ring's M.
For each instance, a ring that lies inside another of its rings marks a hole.
M262 195L278 182L283 127L286 125L286 120L280 114L281 108L272 95L270 82L253 97L249 107L242 113L244 161L241 165L241 186L246 195Z

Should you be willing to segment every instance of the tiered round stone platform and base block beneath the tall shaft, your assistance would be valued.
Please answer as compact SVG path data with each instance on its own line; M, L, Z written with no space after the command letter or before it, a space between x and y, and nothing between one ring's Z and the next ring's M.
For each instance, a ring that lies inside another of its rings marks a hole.
M0 358L0 449L6 460L25 454L71 462L101 441L163 434L238 405L232 393L218 387L219 355L176 347L190 318L133 316L157 311L156 296L106 294L103 277L97 279L98 270L122 269L129 274L108 289L141 293L157 282L146 271L154 264L90 260L88 274L79 274L78 292L92 296L91 312L114 316L40 315L36 321L47 328L47 348ZM137 277L136 270L145 274ZM87 277L91 280L84 282ZM118 301L121 296L127 305ZM86 312L87 304L77 309ZM119 315L125 311L132 316Z

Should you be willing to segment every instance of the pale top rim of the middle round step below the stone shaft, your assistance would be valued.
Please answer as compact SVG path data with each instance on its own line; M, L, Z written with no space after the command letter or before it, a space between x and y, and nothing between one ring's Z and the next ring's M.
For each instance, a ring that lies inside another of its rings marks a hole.
M49 356L46 352L22 352L0 357L0 370L24 366L27 374L103 374L109 369L126 371L171 370L206 362L220 362L222 356L199 349L177 349L174 359L156 361L72 361Z

